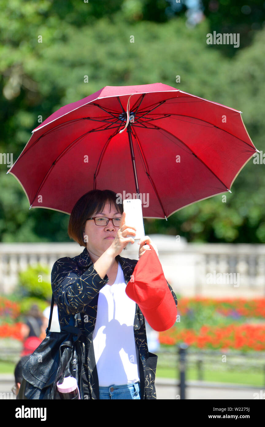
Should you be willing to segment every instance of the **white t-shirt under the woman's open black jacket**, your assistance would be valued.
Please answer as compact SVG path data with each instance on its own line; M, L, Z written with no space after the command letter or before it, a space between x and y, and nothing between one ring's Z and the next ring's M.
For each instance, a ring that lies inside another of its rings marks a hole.
M140 381L133 331L136 304L126 295L125 288L119 263L115 282L106 284L98 295L93 346L99 386Z

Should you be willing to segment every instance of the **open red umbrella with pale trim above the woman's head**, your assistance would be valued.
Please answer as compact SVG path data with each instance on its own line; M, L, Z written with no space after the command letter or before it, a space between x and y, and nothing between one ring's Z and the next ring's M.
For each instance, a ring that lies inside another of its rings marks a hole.
M105 86L37 128L8 173L30 208L71 213L92 189L140 197L144 218L230 191L258 150L241 111L162 83Z

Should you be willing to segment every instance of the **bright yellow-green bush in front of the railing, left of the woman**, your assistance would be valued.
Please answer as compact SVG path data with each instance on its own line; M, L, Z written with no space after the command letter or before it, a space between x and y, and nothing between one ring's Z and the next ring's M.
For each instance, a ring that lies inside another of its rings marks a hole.
M34 267L29 266L25 271L19 273L18 286L24 295L44 300L49 299L52 289L48 267L40 264Z

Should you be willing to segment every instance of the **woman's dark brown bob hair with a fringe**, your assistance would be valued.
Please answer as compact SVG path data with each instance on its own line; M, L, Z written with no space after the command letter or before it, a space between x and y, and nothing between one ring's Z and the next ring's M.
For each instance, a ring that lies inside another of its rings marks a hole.
M93 213L102 212L106 202L109 202L117 211L123 213L123 204L117 203L118 196L112 190L91 190L84 194L75 204L70 215L68 224L68 235L80 246L85 246L83 233L86 219L91 218ZM119 198L120 199L120 198ZM125 248L124 248L125 249Z

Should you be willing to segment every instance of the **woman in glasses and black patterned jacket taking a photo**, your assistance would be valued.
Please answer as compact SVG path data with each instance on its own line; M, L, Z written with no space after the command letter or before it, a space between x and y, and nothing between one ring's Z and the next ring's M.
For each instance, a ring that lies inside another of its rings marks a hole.
M148 351L138 304L125 293L138 260L120 256L128 243L134 243L135 228L125 223L116 194L111 190L84 194L72 210L68 234L85 249L55 262L52 291L60 327L69 324L71 313L79 313L78 328L87 337L84 398L156 399L157 356ZM150 249L148 243L156 248L145 236L139 242L139 257Z

